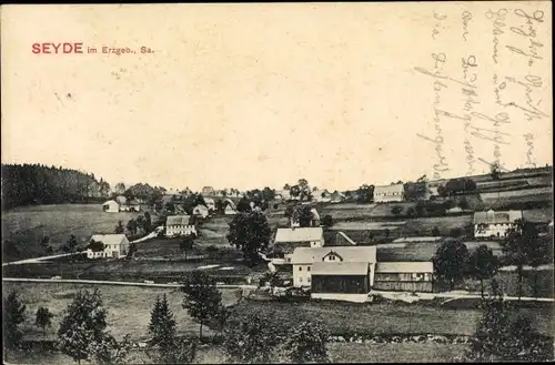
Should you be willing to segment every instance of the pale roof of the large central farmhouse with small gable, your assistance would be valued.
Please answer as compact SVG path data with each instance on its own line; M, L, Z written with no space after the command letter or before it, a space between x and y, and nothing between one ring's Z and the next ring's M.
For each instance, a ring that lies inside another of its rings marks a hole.
M296 247L291 257L292 264L321 262L330 252L343 258L343 262L376 262L375 246L332 246L332 247Z

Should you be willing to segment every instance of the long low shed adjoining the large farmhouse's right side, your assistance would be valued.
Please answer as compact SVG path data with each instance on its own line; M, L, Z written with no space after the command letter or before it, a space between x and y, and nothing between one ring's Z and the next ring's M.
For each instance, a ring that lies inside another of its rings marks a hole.
M428 292L433 291L432 262L380 262L374 275L374 290Z

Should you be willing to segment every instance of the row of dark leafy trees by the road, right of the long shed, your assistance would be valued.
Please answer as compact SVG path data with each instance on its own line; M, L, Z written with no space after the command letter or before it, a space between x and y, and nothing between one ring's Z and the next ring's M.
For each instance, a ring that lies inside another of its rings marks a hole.
M507 232L507 237L501 242L503 261L515 265L518 275L518 297L522 296L524 266L534 267L535 296L539 295L537 267L553 257L553 245L549 237L541 237L536 226L527 221L518 220L516 226ZM482 295L484 281L492 278L500 267L500 261L486 245L478 246L472 254L466 245L457 240L445 241L436 251L434 271L437 277L450 283L451 290L455 282L464 277L480 280Z

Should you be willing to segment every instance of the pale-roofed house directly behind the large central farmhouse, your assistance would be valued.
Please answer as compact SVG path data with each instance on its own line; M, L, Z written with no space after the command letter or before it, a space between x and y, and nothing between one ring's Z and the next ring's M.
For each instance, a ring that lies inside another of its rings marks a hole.
M295 247L322 247L324 231L322 227L278 229L274 240L275 258L291 258Z

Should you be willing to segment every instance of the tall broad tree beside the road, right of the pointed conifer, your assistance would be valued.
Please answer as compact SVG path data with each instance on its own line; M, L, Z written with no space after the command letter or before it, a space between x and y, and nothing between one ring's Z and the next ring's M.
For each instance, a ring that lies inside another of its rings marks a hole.
M221 320L225 315L222 304L222 293L215 286L215 280L202 271L193 271L185 274L182 281L184 293L183 308L189 315L199 322L202 339L202 327L213 320Z

